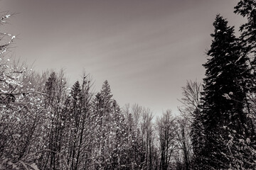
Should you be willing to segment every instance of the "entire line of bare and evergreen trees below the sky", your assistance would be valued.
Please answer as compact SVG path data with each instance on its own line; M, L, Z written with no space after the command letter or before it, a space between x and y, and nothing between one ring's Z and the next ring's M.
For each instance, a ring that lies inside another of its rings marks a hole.
M255 169L256 1L239 1L234 26L218 14L203 82L182 87L181 116L154 119L120 107L110 84L92 92L84 74L38 74L10 60L15 36L0 33L0 169ZM0 25L13 13L1 13Z

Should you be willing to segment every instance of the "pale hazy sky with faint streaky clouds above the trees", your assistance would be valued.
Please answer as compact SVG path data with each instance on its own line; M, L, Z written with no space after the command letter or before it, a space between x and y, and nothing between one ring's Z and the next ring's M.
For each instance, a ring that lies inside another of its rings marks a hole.
M238 0L0 0L17 13L4 30L18 35L12 55L43 72L82 73L100 91L107 79L122 107L138 103L154 115L178 114L182 86L202 81L216 14L235 30Z

